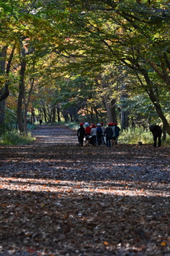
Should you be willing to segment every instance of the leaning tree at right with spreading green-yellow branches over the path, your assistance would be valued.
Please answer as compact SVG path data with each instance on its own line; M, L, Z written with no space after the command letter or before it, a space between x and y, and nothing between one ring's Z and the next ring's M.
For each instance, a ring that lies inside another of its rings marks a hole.
M169 123L155 93L158 83L169 90L170 14L166 1L152 2L152 8L148 1L127 0L67 1L66 4L71 35L65 41L67 55L83 56L79 60L84 68L122 63L133 70L138 85L147 91L170 134ZM73 33L75 29L77 33ZM74 63L69 65L73 67Z

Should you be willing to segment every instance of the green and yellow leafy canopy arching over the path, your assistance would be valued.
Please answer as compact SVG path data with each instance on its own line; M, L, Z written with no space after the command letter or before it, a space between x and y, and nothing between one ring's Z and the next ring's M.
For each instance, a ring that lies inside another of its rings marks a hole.
M105 111L106 103L118 106L127 93L148 95L170 134L168 1L3 1L0 8L1 52L8 48L9 60L15 46L10 70L20 77L18 122L29 75L37 94L50 86L53 107L63 109ZM4 72L2 90L5 78ZM89 93L91 86L96 92Z

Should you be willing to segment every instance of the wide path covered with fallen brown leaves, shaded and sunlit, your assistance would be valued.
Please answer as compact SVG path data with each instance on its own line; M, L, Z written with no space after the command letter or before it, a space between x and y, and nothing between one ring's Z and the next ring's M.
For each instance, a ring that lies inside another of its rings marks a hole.
M78 146L62 126L0 146L0 256L170 255L170 147Z

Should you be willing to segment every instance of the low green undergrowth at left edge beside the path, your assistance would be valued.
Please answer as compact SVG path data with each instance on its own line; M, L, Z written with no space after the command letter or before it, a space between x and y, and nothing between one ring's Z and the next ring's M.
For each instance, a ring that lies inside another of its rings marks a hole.
M5 132L1 136L1 144L4 145L30 144L34 140L31 134L19 134L16 130Z

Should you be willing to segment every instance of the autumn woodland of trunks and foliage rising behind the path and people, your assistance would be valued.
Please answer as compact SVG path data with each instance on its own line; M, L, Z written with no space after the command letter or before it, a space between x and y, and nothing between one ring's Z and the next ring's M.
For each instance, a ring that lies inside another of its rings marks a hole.
M169 1L1 1L0 121L169 127Z

